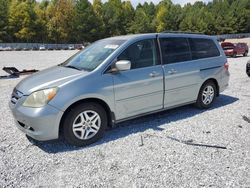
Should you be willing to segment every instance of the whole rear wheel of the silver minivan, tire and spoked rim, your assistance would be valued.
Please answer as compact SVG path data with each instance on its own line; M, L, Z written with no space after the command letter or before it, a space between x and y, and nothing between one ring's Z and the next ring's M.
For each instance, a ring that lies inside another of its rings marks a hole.
M205 94L207 92L207 94ZM205 82L199 91L196 106L200 109L208 109L212 106L217 94L216 85L213 81ZM206 99L206 97L208 97Z

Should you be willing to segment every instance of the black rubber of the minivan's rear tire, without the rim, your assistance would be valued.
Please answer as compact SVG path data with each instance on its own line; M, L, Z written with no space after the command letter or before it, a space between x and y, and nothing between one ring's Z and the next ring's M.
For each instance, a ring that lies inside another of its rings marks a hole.
M205 103L203 102L203 92L204 92L204 90L205 90L208 86L211 86L211 87L213 88L214 95L213 95L213 99L211 100L211 102L208 103L208 104L205 104ZM195 105L196 105L198 108L200 108L200 109L208 109L208 108L210 108L210 107L212 106L212 104L213 104L213 102L214 102L216 96L217 96L217 89L216 89L215 83L214 83L213 81L207 81L207 82L205 82L205 83L201 86L200 91L199 91L199 95L198 95L198 98L197 98L197 101L196 101Z

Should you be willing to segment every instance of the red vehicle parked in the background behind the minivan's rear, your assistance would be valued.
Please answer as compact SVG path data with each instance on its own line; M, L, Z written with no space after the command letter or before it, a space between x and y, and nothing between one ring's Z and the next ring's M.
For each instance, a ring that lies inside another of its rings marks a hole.
M236 57L237 55L247 56L249 50L246 43L223 42L221 46L226 56L230 57Z

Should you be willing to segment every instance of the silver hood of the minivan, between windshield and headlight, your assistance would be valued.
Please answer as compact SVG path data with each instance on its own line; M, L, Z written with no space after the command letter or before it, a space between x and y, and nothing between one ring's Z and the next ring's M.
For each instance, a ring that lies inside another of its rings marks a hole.
M22 92L24 95L29 95L30 93L37 90L58 87L79 76L87 74L89 74L89 72L79 71L63 66L55 66L28 76L19 82L19 84L16 86L16 89Z

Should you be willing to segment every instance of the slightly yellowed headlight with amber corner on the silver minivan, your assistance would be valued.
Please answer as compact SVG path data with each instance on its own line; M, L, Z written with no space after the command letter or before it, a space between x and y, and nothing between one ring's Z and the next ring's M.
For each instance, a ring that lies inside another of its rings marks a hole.
M44 89L31 93L24 101L23 106L40 108L52 100L58 91L58 88Z

